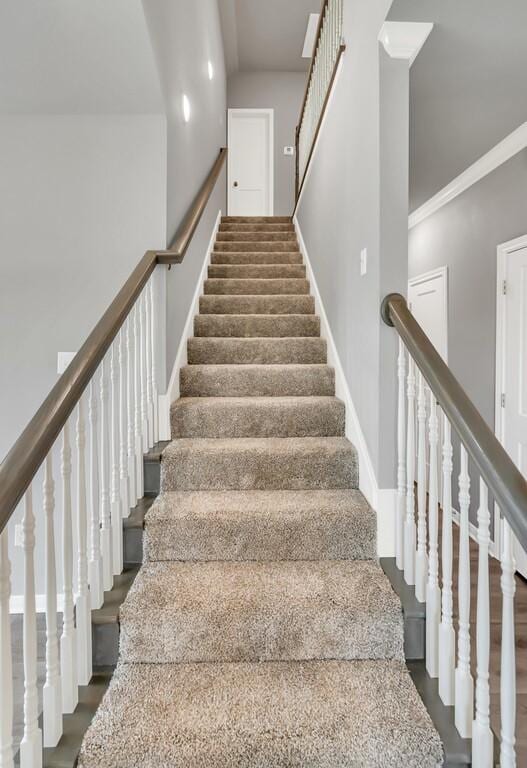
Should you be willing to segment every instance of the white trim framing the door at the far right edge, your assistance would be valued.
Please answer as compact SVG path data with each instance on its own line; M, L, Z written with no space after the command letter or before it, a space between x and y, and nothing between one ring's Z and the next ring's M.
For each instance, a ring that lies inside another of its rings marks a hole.
M502 445L505 444L505 420L503 418L503 406L502 406L502 394L506 392L505 381L505 352L506 352L506 338L505 333L507 329L507 301L506 294L504 293L505 277L507 275L507 258L511 253L519 251L522 248L527 248L527 234L521 237L516 237L514 240L509 240L506 243L501 243L497 247L497 270L496 270L496 396L494 407L494 431L496 437ZM494 515L494 530L499 533L499 540L495 542L496 552L499 559L501 559L501 522L500 513L495 506Z

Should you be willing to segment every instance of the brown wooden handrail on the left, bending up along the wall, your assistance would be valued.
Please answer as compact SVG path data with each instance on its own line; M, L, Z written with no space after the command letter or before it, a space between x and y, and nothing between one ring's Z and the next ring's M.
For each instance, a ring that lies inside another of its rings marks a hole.
M183 261L220 175L227 150L209 175L167 251L147 251L72 362L0 464L0 532L51 450L157 264Z

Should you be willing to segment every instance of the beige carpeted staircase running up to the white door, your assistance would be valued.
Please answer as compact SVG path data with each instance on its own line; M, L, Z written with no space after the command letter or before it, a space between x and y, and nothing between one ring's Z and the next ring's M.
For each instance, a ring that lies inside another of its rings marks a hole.
M431 768L290 219L224 218L82 768Z

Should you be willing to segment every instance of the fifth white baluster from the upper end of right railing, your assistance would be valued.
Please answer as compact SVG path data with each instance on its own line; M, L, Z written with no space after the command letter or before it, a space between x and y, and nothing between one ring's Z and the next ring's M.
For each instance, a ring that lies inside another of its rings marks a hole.
M443 525L441 542L442 591L439 626L439 695L454 703L455 634L452 622L452 441L450 422L443 414Z

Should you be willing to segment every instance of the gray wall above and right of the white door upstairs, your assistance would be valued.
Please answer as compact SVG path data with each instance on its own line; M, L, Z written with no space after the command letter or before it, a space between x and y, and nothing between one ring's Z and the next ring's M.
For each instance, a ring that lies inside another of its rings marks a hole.
M295 205L295 129L306 87L305 72L239 72L229 77L227 104L232 109L274 109L274 213L290 216Z

